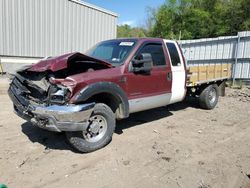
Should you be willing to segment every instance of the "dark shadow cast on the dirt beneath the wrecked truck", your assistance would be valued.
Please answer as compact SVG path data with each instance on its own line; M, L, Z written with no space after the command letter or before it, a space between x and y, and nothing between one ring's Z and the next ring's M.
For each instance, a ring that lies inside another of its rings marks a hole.
M131 114L129 118L117 122L115 133L120 135L123 133L124 129L139 125L145 126L145 123L172 116L172 112L183 110L188 107L198 108L198 104L195 101L190 101L187 99L181 103ZM44 145L45 150L71 150L76 152L67 143L63 133L49 132L35 127L29 122L22 124L22 132L29 138L31 142L37 142Z

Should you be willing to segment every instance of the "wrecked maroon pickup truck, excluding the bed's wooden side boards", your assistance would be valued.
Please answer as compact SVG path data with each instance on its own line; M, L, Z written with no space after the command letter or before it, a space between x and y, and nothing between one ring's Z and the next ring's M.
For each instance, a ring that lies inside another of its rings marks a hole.
M17 71L9 96L17 115L65 132L74 148L91 152L107 145L116 120L131 113L182 101L187 93L202 108L214 108L228 76L191 82L192 74L175 41L114 39Z

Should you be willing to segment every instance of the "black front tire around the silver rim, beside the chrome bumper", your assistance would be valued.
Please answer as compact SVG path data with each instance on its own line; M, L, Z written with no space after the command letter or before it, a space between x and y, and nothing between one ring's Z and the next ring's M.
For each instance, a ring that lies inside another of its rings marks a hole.
M106 121L107 124L105 133L103 133L103 136L99 140L91 140L95 137L86 136L85 134L90 135L90 133L87 132L77 131L65 133L68 142L79 152L88 153L101 149L112 140L112 135L115 130L115 115L113 111L106 104L98 103L95 105L90 119L97 116L103 118L102 120ZM96 135L96 137L98 136L100 135Z

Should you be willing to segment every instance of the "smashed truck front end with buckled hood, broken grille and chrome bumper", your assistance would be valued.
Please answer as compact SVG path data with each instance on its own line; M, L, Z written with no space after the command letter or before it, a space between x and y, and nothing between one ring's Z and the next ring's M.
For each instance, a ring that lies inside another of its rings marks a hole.
M96 64L93 58L74 53L43 60L18 71L8 90L16 114L50 131L87 130L95 104L70 104L76 83L65 86L60 80L101 67L107 68L99 62Z

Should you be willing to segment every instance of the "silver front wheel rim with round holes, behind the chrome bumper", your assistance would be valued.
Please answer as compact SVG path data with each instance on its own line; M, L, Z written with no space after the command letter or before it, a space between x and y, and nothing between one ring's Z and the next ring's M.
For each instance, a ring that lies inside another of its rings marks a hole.
M87 131L83 132L83 137L88 142L98 142L107 132L107 121L102 115L94 115L89 119Z

